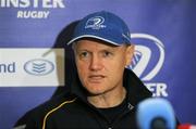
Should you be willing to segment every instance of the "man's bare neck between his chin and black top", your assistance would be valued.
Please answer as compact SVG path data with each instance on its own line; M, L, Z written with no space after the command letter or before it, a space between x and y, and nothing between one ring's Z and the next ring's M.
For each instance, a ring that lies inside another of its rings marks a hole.
M123 102L126 95L126 90L124 87L118 87L111 91L88 96L88 102L98 108L114 107Z

